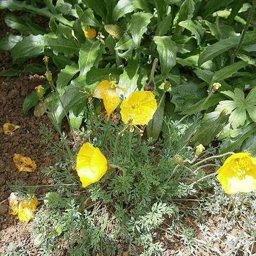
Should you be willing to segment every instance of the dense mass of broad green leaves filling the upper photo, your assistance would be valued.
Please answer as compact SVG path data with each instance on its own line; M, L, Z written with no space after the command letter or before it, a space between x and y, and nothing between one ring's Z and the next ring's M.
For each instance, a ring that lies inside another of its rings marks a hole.
M58 124L65 116L64 107L78 128L86 107L79 91L94 89L111 73L126 88L123 97L127 97L147 85L151 63L157 58L160 65L151 81L156 97L166 81L172 90L148 129L149 136L158 137L164 116L178 120L203 111L194 142L207 145L219 135L225 141L222 153L241 150L254 155L255 90L245 99L255 86L255 15L246 24L254 7L250 1L235 0L2 1L1 9L30 14L5 18L20 35L11 33L0 42L14 62L2 75L44 74L42 56L48 55L63 105L57 92L50 93L49 85L44 85L43 106L55 114ZM46 17L49 26L35 24L35 15ZM88 27L99 36L85 38L83 30ZM31 58L39 64L20 66ZM222 86L209 97L214 82ZM24 113L37 101L35 93L29 95ZM224 108L229 111L226 117L221 115Z

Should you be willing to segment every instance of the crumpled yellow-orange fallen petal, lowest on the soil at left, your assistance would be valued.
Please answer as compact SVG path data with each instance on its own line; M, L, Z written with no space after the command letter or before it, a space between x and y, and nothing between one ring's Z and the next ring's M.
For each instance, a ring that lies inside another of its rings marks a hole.
M31 198L24 198L19 204L19 220L27 224L34 219L37 204L38 201L34 195Z

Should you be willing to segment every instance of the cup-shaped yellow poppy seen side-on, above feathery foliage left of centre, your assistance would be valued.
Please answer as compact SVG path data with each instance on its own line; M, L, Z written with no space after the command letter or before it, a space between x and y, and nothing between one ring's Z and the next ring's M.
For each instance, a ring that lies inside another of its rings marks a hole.
M85 143L78 152L76 171L85 188L99 181L108 169L107 159L99 148L94 148L90 143Z

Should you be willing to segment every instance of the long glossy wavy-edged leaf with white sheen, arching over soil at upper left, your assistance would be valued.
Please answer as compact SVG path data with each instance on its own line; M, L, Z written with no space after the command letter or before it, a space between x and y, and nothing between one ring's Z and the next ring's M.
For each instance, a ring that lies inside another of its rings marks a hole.
M18 42L12 49L11 54L13 61L22 63L28 58L34 58L44 53L45 47L51 47L54 53L62 52L67 56L78 55L80 44L74 40L66 39L59 36L58 38L51 38L42 35L30 35L24 37L22 41Z

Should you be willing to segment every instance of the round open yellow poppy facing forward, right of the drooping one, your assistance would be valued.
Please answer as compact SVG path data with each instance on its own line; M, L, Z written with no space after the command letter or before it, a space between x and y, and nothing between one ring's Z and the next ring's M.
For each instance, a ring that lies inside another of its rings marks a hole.
M125 99L121 106L121 116L123 122L130 125L130 131L134 131L134 127L143 132L137 125L148 124L153 118L157 109L155 95L150 91L136 91L132 92L130 96Z

